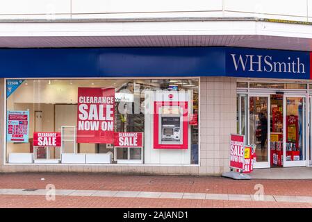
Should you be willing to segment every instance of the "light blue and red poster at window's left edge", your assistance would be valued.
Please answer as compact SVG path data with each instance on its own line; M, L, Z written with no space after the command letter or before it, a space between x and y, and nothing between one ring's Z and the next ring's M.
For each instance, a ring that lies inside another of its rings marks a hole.
M29 111L7 112L7 142L28 143Z

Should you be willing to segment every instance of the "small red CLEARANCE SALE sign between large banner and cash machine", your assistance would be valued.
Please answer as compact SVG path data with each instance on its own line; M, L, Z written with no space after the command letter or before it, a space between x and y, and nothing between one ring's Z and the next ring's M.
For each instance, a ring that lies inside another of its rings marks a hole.
M142 147L142 133L116 132L114 146Z

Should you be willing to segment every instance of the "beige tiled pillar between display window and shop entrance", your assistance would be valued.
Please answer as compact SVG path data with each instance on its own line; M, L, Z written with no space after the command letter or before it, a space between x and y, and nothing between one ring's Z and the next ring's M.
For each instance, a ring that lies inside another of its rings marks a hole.
M203 77L200 85L200 175L229 171L229 138L236 133L236 78Z

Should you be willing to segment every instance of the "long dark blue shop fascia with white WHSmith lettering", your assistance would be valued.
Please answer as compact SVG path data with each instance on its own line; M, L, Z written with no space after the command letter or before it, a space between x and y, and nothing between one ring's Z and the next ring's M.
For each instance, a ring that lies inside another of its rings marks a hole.
M0 78L232 76L310 79L310 58L309 52L233 47L0 49ZM18 84L9 85L8 95Z

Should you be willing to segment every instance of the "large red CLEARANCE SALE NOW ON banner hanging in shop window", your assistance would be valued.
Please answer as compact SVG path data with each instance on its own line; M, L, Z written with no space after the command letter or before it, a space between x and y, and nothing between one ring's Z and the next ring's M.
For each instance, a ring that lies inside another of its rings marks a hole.
M114 88L78 88L77 143L114 143Z

